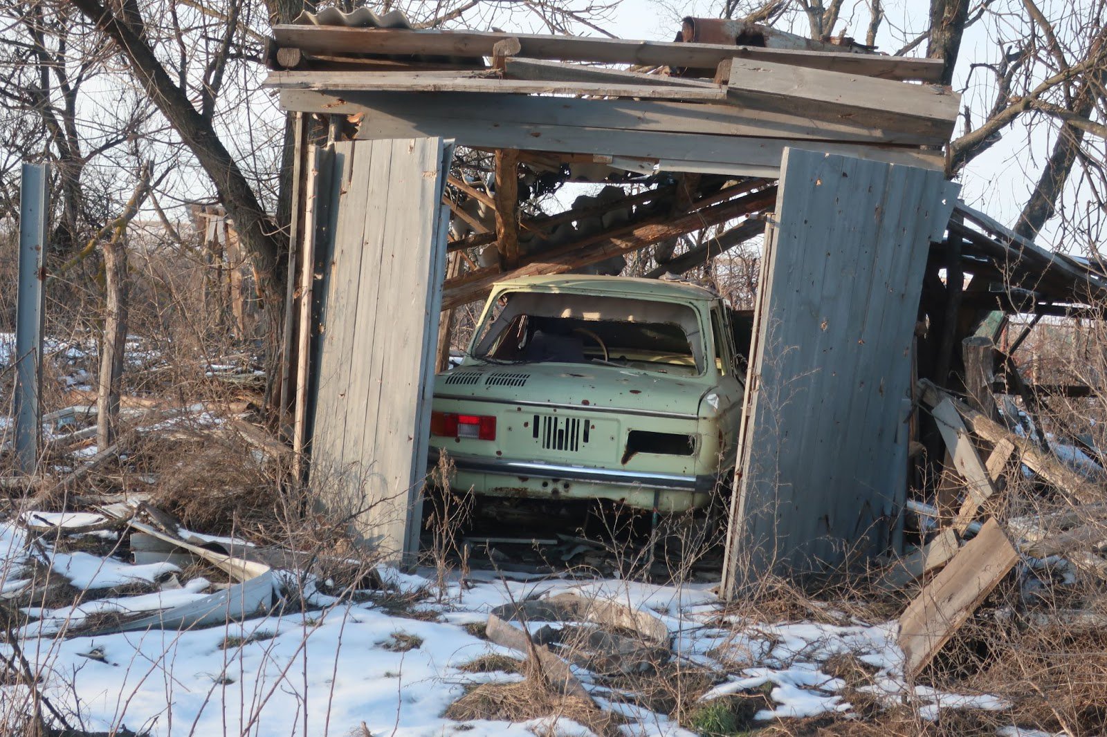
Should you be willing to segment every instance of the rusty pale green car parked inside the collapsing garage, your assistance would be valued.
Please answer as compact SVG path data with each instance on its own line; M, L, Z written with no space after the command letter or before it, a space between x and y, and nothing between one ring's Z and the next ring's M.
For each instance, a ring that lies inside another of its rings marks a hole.
M462 363L435 378L432 461L447 453L455 489L680 512L706 506L733 470L744 359L711 291L514 279L477 325Z

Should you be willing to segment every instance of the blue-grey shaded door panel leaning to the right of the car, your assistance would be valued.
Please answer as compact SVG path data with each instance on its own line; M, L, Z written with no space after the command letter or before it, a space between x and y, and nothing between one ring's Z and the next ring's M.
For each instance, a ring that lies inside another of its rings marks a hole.
M786 149L766 231L725 583L898 534L912 338L940 172Z

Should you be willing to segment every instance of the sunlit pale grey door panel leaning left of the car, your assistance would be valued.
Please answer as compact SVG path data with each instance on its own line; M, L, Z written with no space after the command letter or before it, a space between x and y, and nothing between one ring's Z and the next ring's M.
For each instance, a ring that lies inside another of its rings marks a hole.
M452 145L334 144L317 163L321 294L310 422L311 482L386 559L413 562L426 471L434 339ZM331 237L329 233L333 233Z

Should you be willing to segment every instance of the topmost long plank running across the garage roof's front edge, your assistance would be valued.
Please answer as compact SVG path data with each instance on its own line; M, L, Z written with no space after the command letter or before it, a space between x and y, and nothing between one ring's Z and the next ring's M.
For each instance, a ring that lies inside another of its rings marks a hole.
M530 59L714 70L723 60L744 56L886 79L931 82L941 79L942 70L941 64L929 59L505 32L276 25L273 35L280 46L294 46L312 53L428 54L473 59L492 56L493 46L498 41L514 38L519 41L518 55Z

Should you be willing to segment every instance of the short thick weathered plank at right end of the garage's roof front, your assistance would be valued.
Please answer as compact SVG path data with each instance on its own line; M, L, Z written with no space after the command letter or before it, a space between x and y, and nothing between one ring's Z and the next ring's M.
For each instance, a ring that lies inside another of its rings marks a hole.
M918 129L949 136L961 95L937 85L902 84L736 59L731 65L730 98L778 113L806 113L825 121L858 118L879 127Z

